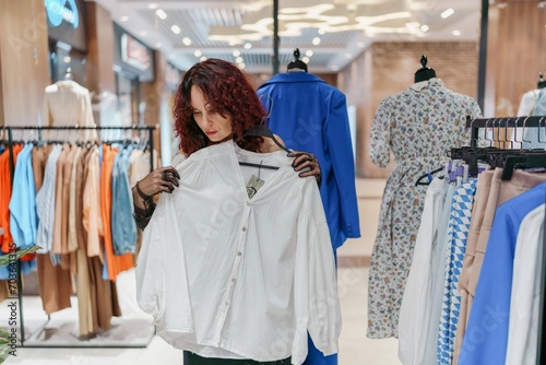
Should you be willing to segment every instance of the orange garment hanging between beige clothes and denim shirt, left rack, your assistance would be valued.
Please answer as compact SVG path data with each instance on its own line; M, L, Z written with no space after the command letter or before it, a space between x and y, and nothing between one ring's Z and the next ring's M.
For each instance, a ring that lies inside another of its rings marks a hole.
M118 149L103 144L103 173L100 176L100 208L103 211L104 248L108 278L116 280L118 273L134 267L133 254L114 254L111 243L111 170Z

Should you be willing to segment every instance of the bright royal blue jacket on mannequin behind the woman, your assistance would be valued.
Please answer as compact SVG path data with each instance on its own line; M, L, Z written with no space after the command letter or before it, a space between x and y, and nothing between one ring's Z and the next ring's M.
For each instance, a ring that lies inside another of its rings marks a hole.
M312 153L322 172L320 195L332 246L360 237L355 163L345 95L307 73L280 73L257 91L269 128L287 148Z

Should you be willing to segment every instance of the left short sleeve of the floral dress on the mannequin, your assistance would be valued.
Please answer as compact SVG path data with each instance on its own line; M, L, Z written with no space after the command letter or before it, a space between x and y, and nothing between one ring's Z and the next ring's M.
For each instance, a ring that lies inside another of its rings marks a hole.
M391 158L391 105L389 98L379 104L370 132L370 157L379 167L387 167Z

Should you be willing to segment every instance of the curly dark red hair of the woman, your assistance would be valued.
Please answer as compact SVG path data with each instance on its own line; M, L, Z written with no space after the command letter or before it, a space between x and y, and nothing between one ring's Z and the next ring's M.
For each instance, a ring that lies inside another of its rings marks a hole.
M207 59L195 63L186 72L176 93L174 116L180 150L188 156L213 144L193 119L191 87L201 89L211 108L224 118L232 117L234 141L245 150L258 152L263 138L242 137L250 128L260 125L266 115L247 75L234 63Z

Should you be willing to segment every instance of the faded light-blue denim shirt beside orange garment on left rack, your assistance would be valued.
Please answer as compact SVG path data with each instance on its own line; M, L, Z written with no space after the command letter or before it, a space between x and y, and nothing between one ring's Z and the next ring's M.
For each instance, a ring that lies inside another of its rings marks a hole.
M136 224L132 217L133 201L129 182L129 156L133 146L121 150L114 158L111 177L111 238L116 255L134 254Z

